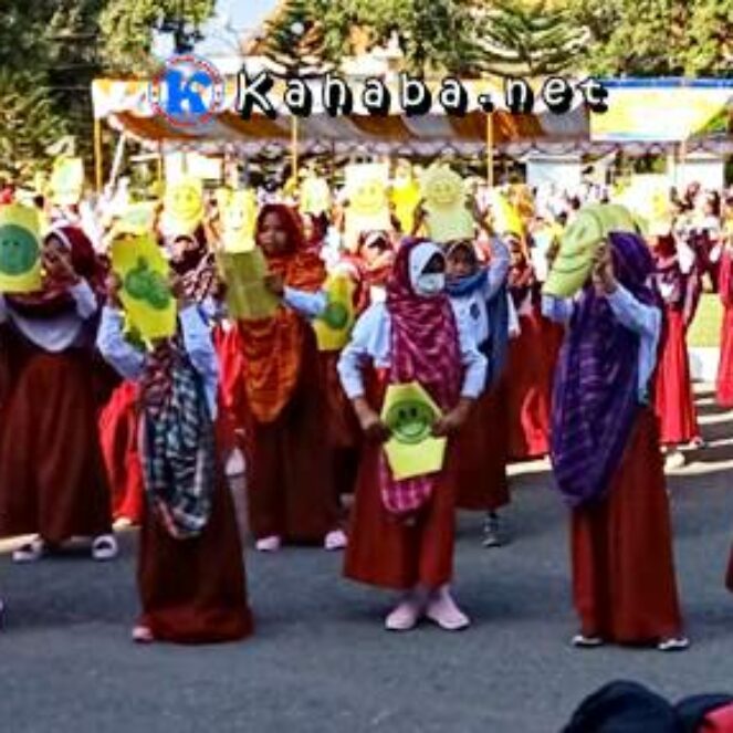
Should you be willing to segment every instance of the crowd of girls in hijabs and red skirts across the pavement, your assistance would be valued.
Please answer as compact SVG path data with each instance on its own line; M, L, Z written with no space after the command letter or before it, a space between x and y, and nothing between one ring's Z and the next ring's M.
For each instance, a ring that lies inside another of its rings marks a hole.
M505 544L507 463L549 455L570 510L574 643L685 648L662 450L679 464L678 447L701 444L685 336L703 287L724 305L718 399L733 405L733 241L720 198L693 187L646 238L611 233L574 299L543 295L583 203L537 196L517 229L477 197L473 238L439 244L419 217L413 231L392 218L335 248L337 216L264 203L254 243L279 305L249 320L227 313L211 206L192 234L157 232L177 331L148 344L108 253L63 212L42 290L0 295L0 534L33 535L13 559L84 536L108 561L113 522L139 525L134 639L241 639L253 621L226 473L240 455L258 551L343 549L347 578L401 594L387 629L458 630L457 510L483 512L483 544ZM334 273L356 317L323 350ZM447 448L439 471L397 478L381 408L413 381Z

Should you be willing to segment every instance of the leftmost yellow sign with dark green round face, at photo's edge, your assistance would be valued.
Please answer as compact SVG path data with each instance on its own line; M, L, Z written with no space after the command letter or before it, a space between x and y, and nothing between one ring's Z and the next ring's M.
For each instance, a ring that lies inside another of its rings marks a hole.
M35 208L0 207L0 293L41 290L41 222Z

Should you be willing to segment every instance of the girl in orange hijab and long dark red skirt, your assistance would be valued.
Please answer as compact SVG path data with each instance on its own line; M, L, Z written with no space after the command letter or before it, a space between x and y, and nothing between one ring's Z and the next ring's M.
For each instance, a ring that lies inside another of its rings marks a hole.
M239 321L248 411L250 527L262 552L283 542L341 549L327 452L325 395L310 318L326 308L323 262L308 251L297 214L266 205L255 240L268 286L282 299L274 316Z

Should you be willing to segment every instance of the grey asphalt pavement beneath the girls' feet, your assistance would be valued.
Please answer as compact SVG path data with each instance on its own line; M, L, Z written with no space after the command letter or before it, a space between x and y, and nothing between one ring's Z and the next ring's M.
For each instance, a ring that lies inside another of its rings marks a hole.
M135 536L100 566L71 557L13 566L0 637L0 730L8 733L543 733L615 678L678 698L733 691L733 596L722 576L733 537L733 415L701 395L710 447L671 477L677 557L693 648L683 655L575 651L564 511L543 464L514 479L516 542L478 543L464 515L458 593L467 632L381 630L389 598L339 578L317 549L248 555L256 636L207 648L128 641Z

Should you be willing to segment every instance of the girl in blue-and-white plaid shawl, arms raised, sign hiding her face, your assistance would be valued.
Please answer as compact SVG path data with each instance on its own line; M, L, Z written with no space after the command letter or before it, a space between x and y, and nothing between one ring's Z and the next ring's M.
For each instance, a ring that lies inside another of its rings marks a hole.
M179 328L147 353L125 339L112 278L97 344L138 385L146 504L137 582L139 643L209 643L249 636L242 546L218 454L218 365L209 327L176 279Z

